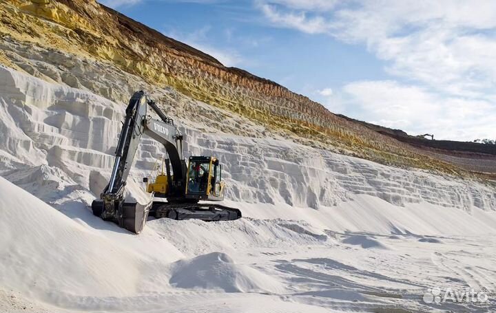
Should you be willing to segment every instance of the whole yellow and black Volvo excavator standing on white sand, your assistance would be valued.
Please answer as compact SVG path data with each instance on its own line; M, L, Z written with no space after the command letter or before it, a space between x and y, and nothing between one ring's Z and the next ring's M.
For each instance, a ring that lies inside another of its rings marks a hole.
M152 108L161 120L147 115L148 108ZM125 114L110 181L100 199L92 202L94 215L136 234L141 233L149 216L204 221L241 217L237 208L200 202L224 199L222 165L212 156L190 156L186 163L183 157L183 134L174 125L174 120L165 116L144 91L134 93ZM143 178L152 200L145 204L125 202L126 181L143 135L163 144L168 158L163 160L162 173L154 182L149 182L148 177Z

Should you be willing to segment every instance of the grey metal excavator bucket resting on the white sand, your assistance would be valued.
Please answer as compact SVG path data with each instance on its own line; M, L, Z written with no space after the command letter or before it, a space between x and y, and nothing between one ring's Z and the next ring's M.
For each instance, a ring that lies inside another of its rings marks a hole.
M129 230L132 233L139 234L148 218L148 213L152 202L149 204L140 204L136 202L123 202L121 206L121 213L116 211L112 217L103 217L103 201L94 201L92 203L93 215L102 217L106 221L114 222L120 227Z

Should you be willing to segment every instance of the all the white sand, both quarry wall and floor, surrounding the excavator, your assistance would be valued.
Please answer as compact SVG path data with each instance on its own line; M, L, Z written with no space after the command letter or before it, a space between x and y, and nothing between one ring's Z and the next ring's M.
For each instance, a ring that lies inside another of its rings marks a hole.
M187 128L188 154L220 158L225 204L245 217L151 220L138 236L103 222L88 205L123 111L0 67L1 312L496 309L422 301L496 290L495 190L447 175ZM128 197L161 153L143 140Z

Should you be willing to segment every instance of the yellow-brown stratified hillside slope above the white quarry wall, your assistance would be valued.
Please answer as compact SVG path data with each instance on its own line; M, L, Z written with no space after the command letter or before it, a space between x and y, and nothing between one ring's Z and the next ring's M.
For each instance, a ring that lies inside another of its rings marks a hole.
M209 106L198 118L217 131L282 136L383 164L463 175L470 170L336 116L271 80L225 67L94 0L2 1L0 37L3 65L117 102L126 102L136 89L158 92L165 110L178 118L197 114L185 105L188 98L200 100ZM174 90L174 96L164 90ZM263 131L225 126L226 116ZM494 155L488 162L496 162Z

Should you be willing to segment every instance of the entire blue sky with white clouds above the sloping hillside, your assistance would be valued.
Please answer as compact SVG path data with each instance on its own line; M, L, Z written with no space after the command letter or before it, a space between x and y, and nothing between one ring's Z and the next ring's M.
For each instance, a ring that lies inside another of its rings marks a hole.
M335 114L496 139L494 0L99 0Z

